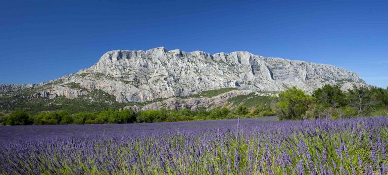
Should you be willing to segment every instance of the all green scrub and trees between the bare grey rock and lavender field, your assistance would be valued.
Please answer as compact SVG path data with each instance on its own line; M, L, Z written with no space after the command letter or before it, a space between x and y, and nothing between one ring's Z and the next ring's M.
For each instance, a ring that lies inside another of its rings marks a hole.
M227 89L207 91L201 97L210 97L225 91L228 92ZM162 99L155 101L160 100ZM148 103L136 103L136 105L142 106ZM272 115L277 115L279 120L336 119L388 115L388 89L355 86L352 90L343 92L337 86L325 85L310 96L293 87L280 92L277 97L257 92L234 96L228 100L226 106L212 110L201 108L119 111L133 103L116 102L113 95L101 90L92 91L75 99L65 97L26 99L17 95L2 95L0 104L3 109L0 112L0 124L4 125L152 123Z

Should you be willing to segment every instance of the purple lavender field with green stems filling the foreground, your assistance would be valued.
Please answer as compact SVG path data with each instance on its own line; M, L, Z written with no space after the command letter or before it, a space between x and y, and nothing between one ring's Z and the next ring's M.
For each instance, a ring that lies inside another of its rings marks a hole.
M388 118L0 126L0 174L386 174Z

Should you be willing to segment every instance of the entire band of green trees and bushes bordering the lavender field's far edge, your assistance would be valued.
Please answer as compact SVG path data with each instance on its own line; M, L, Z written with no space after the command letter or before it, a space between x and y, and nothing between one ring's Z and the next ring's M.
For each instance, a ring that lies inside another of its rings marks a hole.
M311 95L293 87L274 96L272 104L253 107L238 105L234 109L226 107L212 110L104 110L100 112L78 112L70 114L66 110L40 112L35 115L23 110L8 114L0 113L3 125L58 125L58 124L124 124L153 123L256 118L277 115L279 120L311 120L318 118L350 118L356 116L388 115L388 88L353 87L346 92L338 86L325 85Z

